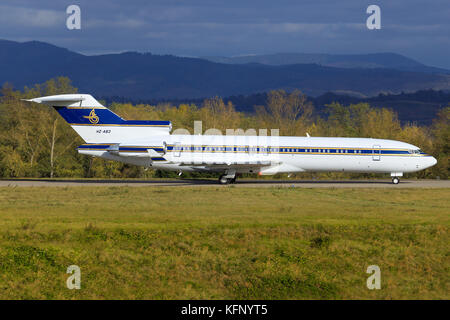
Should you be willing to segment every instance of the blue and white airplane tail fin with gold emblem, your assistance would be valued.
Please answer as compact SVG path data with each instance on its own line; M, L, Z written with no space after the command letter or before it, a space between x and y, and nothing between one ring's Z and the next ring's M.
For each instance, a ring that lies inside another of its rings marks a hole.
M90 94L62 94L26 101L50 105L87 143L120 143L169 134L170 121L124 120Z

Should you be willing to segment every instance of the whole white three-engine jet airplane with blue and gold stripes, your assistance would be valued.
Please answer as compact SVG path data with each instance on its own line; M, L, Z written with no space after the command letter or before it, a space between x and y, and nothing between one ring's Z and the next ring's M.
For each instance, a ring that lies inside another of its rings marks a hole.
M436 164L408 143L371 138L171 134L170 121L124 120L89 94L30 99L50 105L83 138L78 152L161 170L236 174L295 172L390 173L398 184L405 172Z

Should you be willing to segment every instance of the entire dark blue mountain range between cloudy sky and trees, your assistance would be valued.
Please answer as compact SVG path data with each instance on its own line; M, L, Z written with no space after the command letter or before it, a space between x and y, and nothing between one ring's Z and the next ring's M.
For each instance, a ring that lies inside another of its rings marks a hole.
M0 84L10 82L22 88L67 76L80 92L130 99L227 97L272 89L359 97L450 89L447 70L395 54L312 55L309 60L307 56L294 54L291 60L286 54L259 56L267 63L230 64L136 52L86 56L43 42L0 40Z

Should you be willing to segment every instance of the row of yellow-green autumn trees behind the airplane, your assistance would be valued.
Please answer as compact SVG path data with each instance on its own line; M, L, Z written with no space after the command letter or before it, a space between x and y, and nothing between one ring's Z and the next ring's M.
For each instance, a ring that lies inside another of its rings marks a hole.
M58 77L43 84L15 90L6 83L0 97L0 177L84 177L147 178L171 176L118 162L78 154L83 140L50 107L22 101L40 96L76 93L70 79ZM300 91L268 93L263 105L252 114L235 110L231 102L219 97L205 99L197 105L160 103L158 105L116 103L109 108L125 119L170 120L174 130L184 128L193 133L194 121L203 130L280 129L280 135L371 137L394 139L419 146L438 159L436 166L409 174L418 178L449 177L450 106L443 108L431 126L401 124L394 111L373 108L367 103L327 105L326 116L314 115L313 104ZM190 174L201 176L201 174ZM298 176L311 176L299 174ZM328 178L362 177L364 174L321 173Z

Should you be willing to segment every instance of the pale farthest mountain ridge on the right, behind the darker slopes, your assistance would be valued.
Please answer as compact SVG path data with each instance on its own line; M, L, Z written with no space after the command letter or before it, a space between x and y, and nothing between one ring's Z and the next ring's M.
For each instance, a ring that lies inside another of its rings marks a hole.
M203 57L209 61L228 64L260 63L272 66L315 63L336 68L386 68L411 72L445 73L450 70L429 67L396 53L371 54L323 54L323 53L275 53L236 57Z

